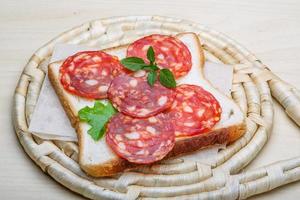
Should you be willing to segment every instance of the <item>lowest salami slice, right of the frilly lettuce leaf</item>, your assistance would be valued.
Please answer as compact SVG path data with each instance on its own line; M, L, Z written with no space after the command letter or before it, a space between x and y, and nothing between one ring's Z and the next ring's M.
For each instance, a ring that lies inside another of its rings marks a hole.
M173 123L162 113L143 119L118 113L107 125L106 142L117 155L129 162L153 163L173 149Z

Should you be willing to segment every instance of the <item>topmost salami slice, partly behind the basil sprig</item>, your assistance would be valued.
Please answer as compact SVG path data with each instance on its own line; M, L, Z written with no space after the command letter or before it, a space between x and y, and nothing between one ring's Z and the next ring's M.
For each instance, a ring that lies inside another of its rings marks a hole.
M127 57L140 57L148 62L150 46L154 49L157 65L170 69L176 78L190 71L192 58L189 49L179 39L167 35L149 35L133 42L127 49Z

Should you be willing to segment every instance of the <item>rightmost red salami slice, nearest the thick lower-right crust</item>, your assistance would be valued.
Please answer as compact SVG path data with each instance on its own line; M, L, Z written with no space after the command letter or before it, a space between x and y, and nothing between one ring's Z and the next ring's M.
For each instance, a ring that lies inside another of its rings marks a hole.
M215 97L196 85L180 85L167 115L174 121L176 137L198 135L209 131L221 116Z

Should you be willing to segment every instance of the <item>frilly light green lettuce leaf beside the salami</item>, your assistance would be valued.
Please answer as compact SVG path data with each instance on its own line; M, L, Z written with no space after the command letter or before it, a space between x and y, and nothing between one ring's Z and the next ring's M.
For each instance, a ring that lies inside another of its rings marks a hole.
M105 134L106 123L116 112L110 102L103 104L100 101L96 101L94 107L86 106L80 109L78 116L81 121L87 122L91 126L88 134L95 141L98 141Z

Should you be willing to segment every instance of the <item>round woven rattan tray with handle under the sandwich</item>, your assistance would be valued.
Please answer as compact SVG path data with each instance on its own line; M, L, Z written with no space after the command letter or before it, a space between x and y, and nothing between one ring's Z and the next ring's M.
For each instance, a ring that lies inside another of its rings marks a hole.
M199 35L206 58L234 66L232 98L246 115L247 132L218 152L211 165L165 161L112 178L94 179L77 163L73 142L42 140L28 131L47 63L57 43L108 48L151 33ZM245 199L300 180L300 155L238 173L267 142L273 124L272 96L300 125L300 93L270 72L252 53L227 36L190 21L159 16L100 19L66 31L38 49L24 68L14 96L13 121L26 153L40 168L72 191L91 199Z

